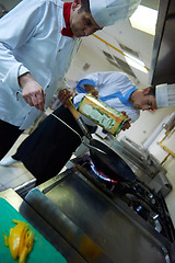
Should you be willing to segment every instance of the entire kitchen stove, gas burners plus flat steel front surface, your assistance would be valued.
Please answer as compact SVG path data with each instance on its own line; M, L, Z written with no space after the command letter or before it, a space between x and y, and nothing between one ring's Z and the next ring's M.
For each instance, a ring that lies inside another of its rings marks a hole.
M90 155L71 164L25 196L57 240L40 224L36 229L69 263L175 263L175 230L161 194L138 178L110 180ZM25 208L30 221L27 215Z

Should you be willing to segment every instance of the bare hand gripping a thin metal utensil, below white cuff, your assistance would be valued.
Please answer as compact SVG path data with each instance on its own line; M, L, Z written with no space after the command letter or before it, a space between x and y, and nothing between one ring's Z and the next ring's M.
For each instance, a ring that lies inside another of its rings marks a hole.
M22 88L22 96L25 102L30 106L35 106L37 110L44 112L46 94L31 73L27 72L20 76L19 84Z

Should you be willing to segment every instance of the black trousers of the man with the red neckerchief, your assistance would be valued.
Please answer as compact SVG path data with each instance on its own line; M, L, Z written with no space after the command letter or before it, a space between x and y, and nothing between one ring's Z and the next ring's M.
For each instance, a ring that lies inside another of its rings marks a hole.
M0 160L8 153L23 130L0 119Z

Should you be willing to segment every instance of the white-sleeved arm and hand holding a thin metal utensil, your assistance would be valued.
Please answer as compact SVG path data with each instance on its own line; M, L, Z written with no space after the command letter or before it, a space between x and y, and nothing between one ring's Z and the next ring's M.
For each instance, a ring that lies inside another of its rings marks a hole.
M0 81L12 89L13 94L22 88L26 103L40 111L44 111L44 91L30 70L16 59L14 50L27 50L26 43L39 32L40 21L49 12L50 5L46 5L39 1L21 1L0 20Z

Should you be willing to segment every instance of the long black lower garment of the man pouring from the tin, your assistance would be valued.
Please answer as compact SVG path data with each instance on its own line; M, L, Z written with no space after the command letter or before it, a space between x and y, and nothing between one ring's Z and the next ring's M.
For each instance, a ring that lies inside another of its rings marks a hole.
M62 105L54 114L82 136L81 129L68 108ZM21 160L37 179L37 184L40 184L57 175L80 144L81 138L77 134L49 115L20 145L13 158Z

